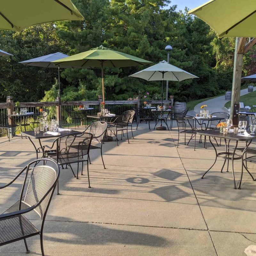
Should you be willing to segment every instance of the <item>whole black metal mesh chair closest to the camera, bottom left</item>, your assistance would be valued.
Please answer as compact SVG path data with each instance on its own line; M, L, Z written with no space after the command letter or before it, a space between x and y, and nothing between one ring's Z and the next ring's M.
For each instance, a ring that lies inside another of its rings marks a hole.
M50 162L54 167L45 165L45 161ZM41 165L32 167L34 163L41 163ZM28 179L30 171L30 178ZM60 167L55 161L49 159L35 160L23 168L11 182L0 187L0 189L10 186L23 172L25 172L25 178L20 193L19 210L0 215L0 246L24 240L28 253L29 250L26 238L40 235L41 252L44 256L44 220L60 176ZM25 189L26 193L23 197ZM26 206L26 208L22 209L24 206ZM35 211L40 216L42 220L40 229L37 229L24 216L24 214L31 211Z

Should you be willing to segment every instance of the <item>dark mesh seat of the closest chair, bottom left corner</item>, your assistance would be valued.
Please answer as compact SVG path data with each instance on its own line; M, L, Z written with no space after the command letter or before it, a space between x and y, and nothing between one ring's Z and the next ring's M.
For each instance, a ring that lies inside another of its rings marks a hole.
M23 215L3 218L0 220L0 244L8 244L21 237L39 235L40 231Z

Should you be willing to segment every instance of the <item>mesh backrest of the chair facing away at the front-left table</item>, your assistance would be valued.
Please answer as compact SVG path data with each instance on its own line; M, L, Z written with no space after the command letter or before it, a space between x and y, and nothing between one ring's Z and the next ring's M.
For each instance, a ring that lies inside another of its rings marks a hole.
M64 135L57 139L58 159L76 158L89 153L93 135L88 132Z

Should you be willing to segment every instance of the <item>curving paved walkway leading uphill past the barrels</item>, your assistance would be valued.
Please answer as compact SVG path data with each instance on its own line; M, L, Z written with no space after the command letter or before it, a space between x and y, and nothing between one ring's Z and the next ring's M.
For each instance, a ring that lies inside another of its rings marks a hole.
M256 90L256 87L254 87L253 91ZM241 90L241 93L240 93L240 96L243 96L245 94L248 93L248 89L243 89ZM196 113L200 113L200 107L202 105L207 105L207 110L210 111L210 113L213 113L213 112L221 112L221 111L224 111L224 112L227 112L227 108L225 108L225 104L228 102L229 100L225 100L225 95L223 96L220 96L220 97L217 97L217 98L214 98L214 99L211 99L211 100L206 100L204 102L201 102L199 104L197 104L194 108L194 111Z

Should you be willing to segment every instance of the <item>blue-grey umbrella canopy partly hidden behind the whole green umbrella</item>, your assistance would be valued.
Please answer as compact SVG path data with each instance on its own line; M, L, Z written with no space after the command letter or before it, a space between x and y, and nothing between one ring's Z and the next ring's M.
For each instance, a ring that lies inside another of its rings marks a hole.
M61 53L61 52L55 52L48 55L44 55L41 57L37 57L30 60L24 60L19 63L26 65L26 66L36 66L36 67L44 67L44 68L58 68L58 66L54 65L52 61L59 60L62 58L68 57L67 54ZM62 68L60 66L60 68ZM68 67L65 67L68 68Z

